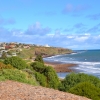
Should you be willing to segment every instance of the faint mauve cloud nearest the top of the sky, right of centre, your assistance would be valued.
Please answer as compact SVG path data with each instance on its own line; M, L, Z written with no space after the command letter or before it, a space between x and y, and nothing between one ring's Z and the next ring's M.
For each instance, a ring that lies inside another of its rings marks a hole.
M77 13L77 12L81 12L81 11L87 10L88 8L89 8L88 5L77 5L77 6L74 6L73 4L67 4L62 12L63 12L63 14L67 14L69 12Z

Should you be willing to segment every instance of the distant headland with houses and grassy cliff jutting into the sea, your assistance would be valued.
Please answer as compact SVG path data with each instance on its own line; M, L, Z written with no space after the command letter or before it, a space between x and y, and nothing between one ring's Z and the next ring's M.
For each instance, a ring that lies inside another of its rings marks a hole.
M69 54L73 51L68 48L50 47L48 44L45 46L36 44L26 44L18 42L1 42L0 43L0 57L3 53L6 56L19 56L23 59L34 59L36 55L42 55L42 57L48 57L58 54Z

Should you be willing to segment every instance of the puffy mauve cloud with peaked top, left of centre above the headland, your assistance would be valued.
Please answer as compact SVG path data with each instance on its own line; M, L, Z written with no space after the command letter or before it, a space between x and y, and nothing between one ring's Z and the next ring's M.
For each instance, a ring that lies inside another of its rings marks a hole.
M39 22L36 22L35 24L29 26L26 34L29 35L45 35L51 32L51 29L49 27L42 28L41 24Z

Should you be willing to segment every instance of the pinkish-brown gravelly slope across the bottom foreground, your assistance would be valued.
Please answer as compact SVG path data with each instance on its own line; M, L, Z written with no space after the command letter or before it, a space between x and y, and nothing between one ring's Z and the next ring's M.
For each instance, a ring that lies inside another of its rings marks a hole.
M0 82L0 100L90 100L41 86L14 81Z

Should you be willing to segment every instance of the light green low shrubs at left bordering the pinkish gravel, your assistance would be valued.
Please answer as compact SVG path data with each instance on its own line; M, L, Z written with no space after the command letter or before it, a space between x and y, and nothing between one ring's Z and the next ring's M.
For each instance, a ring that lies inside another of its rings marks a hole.
M18 69L2 69L0 71L0 80L15 80L36 85L36 81L32 78L31 75Z

